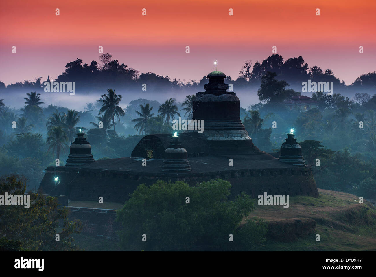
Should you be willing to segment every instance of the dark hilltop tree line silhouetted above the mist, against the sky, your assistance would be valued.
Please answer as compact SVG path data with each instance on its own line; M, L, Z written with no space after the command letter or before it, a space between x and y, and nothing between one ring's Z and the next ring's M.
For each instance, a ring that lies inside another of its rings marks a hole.
M247 90L258 87L261 84L262 76L267 72L275 73L277 79L284 80L297 89L301 83L311 79L318 82L333 82L337 91L344 94L353 93L356 90L365 92L374 91L376 88L376 72L365 73L356 80L346 85L340 81L331 69L323 70L317 65L309 67L302 56L284 58L279 54L273 54L262 62L256 61L252 65L252 60L247 60L241 66L240 76L232 79L228 76L225 79L227 84L232 83L237 90ZM92 61L90 65L83 64L82 59L68 62L65 71L56 77L57 82L76 81L77 91L90 93L97 90L105 90L107 84L112 84L121 90L132 91L141 90L143 84L147 84L147 91L171 92L171 91L198 91L207 82L203 77L200 80L180 80L171 79L168 76L157 75L153 72L140 73L138 70L129 68L117 59L112 59L109 53L99 57L99 63ZM34 81L16 82L5 85L0 82L0 91L20 91L23 89L40 91L43 88L42 77L35 78Z

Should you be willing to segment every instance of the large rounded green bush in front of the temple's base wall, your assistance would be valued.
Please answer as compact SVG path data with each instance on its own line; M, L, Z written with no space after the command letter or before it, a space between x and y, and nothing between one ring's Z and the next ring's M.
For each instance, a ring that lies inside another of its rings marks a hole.
M195 187L161 180L152 186L139 185L117 214L117 221L123 224L121 246L126 250L255 248L265 240L266 225L252 219L239 228L243 217L253 210L253 200L241 193L229 201L230 187L219 179ZM238 243L230 242L229 234Z

